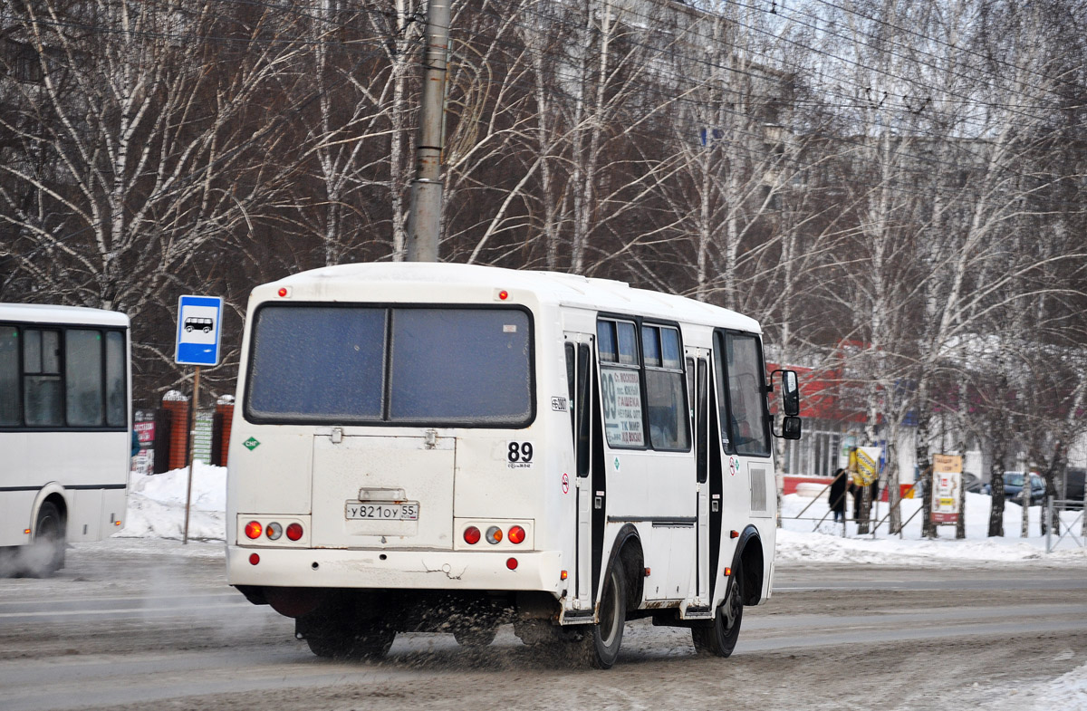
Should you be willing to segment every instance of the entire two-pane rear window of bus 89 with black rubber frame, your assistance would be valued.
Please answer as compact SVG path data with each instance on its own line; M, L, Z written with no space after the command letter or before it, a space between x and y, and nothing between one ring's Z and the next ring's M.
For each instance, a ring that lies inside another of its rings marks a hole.
M268 305L254 319L246 416L524 426L532 365L521 309Z

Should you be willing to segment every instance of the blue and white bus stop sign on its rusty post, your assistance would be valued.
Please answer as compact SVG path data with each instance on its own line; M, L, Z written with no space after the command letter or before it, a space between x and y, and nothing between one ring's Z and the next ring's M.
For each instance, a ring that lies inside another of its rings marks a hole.
M192 503L192 451L196 445L197 408L200 404L200 366L218 365L220 334L223 333L223 299L186 295L177 299L177 340L174 362L196 365L192 373L192 403L189 408L189 481L185 487L185 533L189 542L189 506Z

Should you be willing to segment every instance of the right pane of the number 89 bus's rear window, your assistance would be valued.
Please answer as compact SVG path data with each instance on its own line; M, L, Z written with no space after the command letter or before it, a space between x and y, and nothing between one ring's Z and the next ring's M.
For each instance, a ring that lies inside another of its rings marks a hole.
M389 419L528 424L529 344L517 309L395 309Z

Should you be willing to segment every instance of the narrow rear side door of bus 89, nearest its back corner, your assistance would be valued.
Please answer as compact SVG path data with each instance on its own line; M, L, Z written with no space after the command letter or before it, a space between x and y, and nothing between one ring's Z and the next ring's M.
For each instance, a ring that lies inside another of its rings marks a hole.
M566 384L570 396L570 428L574 445L572 485L575 491L576 533L574 542L573 608L584 610L591 621L594 609L592 564L595 492L592 490L592 336L566 334ZM602 511L602 509L601 509ZM602 535L602 526L598 536ZM599 546L598 546L599 547ZM569 614L566 616L570 616Z

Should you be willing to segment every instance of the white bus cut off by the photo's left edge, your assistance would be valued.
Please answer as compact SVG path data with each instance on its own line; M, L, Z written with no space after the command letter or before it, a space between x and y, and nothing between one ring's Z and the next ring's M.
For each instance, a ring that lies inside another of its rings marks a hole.
M0 303L0 573L48 575L122 525L128 316Z

